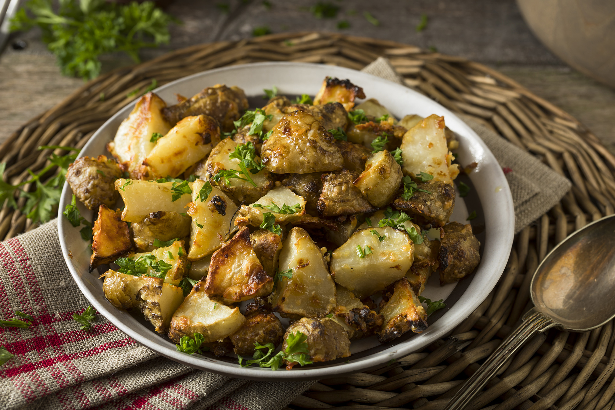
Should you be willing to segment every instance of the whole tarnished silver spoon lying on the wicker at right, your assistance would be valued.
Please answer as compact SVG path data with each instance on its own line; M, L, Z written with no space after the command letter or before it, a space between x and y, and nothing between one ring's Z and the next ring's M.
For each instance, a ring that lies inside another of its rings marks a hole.
M534 308L443 410L461 410L506 360L536 332L558 326L586 332L615 317L615 215L572 233L536 269L530 285Z

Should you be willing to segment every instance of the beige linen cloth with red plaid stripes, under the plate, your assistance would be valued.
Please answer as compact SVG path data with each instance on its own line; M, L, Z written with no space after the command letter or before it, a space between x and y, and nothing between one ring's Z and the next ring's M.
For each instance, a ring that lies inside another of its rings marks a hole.
M400 82L387 60L364 71ZM570 188L568 180L485 127L472 128L504 167L517 231ZM540 187L533 181L540 181ZM252 382L161 357L98 315L89 332L73 321L89 303L63 263L56 221L0 243L0 316L33 316L26 329L0 329L14 356L0 367L0 409L276 410L312 382ZM282 370L280 370L282 371Z

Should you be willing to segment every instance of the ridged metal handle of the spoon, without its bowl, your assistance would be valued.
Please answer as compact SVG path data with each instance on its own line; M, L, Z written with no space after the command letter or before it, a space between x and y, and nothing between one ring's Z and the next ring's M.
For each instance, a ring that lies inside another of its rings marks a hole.
M493 352L485 363L480 366L478 371L472 374L472 377L466 381L466 384L446 403L442 410L461 410L466 407L469 401L482 390L491 377L496 375L502 364L506 363L506 360L526 340L534 336L536 332L544 332L555 325L556 323L553 320L547 318L541 312L528 312L523 323L499 345L498 350Z

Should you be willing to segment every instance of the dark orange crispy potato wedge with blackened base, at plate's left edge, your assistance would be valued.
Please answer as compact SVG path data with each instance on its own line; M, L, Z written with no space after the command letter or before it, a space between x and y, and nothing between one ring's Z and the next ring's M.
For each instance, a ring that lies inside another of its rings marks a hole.
M121 220L121 211L111 211L105 205L98 207L98 218L92 230L92 256L90 270L113 262L132 249L128 224Z

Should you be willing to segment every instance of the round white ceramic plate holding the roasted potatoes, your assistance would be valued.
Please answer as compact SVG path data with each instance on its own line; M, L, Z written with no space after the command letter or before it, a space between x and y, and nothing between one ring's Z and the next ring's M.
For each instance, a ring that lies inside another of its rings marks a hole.
M456 198L452 220L466 222L469 212L476 211L472 220L475 233L481 241L482 260L469 278L458 284L440 287L437 275L433 275L423 295L438 300L445 299L447 308L429 317L429 328L422 334L408 332L388 344L379 344L375 337L352 343L352 356L324 364L312 364L292 371L271 371L261 368L241 368L232 357L216 358L186 355L176 350L175 344L154 332L153 327L129 312L119 310L103 295L103 281L98 271L89 273L91 251L89 243L81 239L79 228L74 228L62 215L66 204L71 202L71 189L66 183L58 211L58 231L62 253L74 280L92 306L108 318L122 332L163 356L194 368L204 369L231 377L253 380L306 380L322 379L340 374L366 371L390 360L417 352L431 344L464 320L485 299L504 271L514 236L514 209L512 197L496 159L485 143L459 118L430 98L391 81L349 70L338 66L308 63L255 63L237 65L217 70L204 71L170 82L155 90L167 103L175 103L175 93L191 96L214 84L239 86L246 95L258 96L263 89L277 86L280 94L315 95L325 76L348 78L363 87L368 98L376 98L398 118L407 114L445 116L446 125L458 134L460 148L458 160L462 165L478 163L469 177L461 178L472 186L466 198ZM264 103L260 100L261 105ZM81 150L80 156L109 155L105 144L113 139L117 127L133 108L130 103L98 129ZM79 203L81 214L92 219L92 212Z

